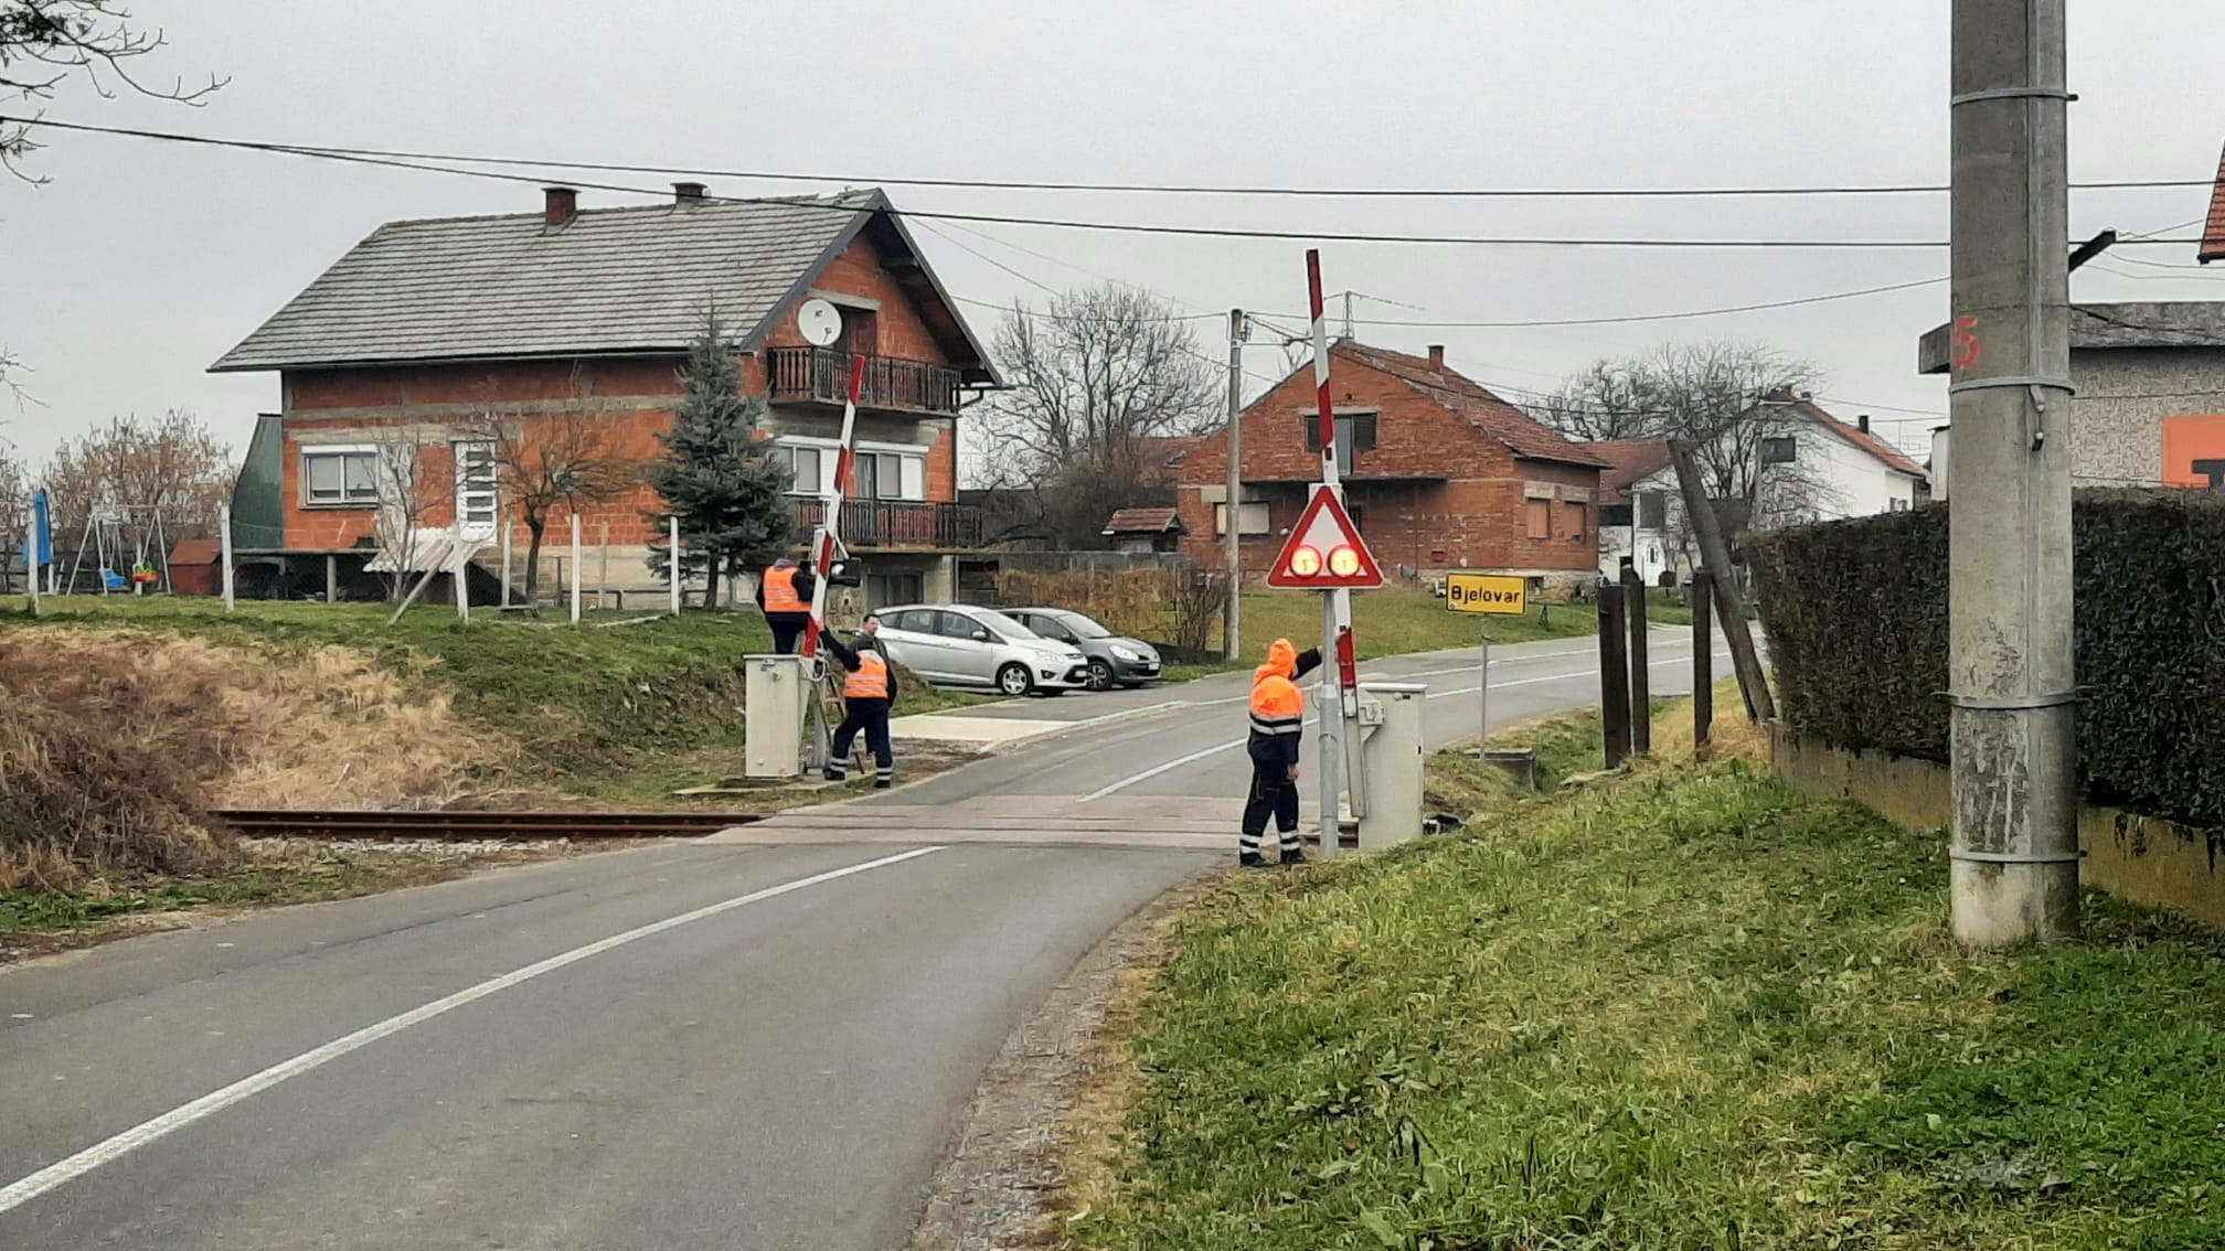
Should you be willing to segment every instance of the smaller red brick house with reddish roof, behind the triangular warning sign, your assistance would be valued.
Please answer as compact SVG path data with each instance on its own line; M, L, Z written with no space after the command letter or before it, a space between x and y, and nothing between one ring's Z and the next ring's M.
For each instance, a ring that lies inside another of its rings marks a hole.
M1384 568L1520 572L1542 588L1598 574L1598 494L1604 461L1524 416L1444 363L1339 341L1331 398L1344 450L1344 496ZM1244 570L1266 574L1319 479L1313 365L1242 414ZM1222 563L1228 439L1181 456L1181 550Z

